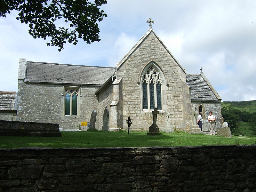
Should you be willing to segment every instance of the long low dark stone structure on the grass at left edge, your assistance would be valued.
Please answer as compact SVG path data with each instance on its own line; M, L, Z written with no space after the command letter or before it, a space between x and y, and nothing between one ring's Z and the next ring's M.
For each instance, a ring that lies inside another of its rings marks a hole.
M61 137L59 124L0 120L0 136Z

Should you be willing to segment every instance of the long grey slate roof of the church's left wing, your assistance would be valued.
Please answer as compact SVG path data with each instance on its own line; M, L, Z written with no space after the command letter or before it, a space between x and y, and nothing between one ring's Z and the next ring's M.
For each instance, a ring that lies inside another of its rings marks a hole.
M27 61L26 81L102 85L115 68Z

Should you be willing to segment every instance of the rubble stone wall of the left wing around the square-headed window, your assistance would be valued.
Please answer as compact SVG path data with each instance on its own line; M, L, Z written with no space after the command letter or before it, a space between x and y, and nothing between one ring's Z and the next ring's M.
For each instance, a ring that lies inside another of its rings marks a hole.
M64 116L63 84L39 84L18 81L17 121L56 123L60 128L74 129L81 121L90 122L92 110L98 111L94 94L97 86L81 86L78 116ZM98 120L96 120L96 127Z

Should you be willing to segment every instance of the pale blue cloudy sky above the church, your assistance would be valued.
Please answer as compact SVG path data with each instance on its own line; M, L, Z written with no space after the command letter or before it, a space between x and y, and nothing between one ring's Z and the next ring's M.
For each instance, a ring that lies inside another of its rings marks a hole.
M222 101L256 100L256 1L108 0L100 42L64 50L34 39L18 12L0 17L0 91L17 91L19 58L27 61L115 67L153 30L188 74L204 75Z

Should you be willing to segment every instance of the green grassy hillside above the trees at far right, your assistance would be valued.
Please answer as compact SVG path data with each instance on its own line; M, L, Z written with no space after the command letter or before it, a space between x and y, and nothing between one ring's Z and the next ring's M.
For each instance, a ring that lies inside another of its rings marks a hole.
M221 106L230 105L240 111L246 111L249 113L256 112L256 100L253 101L223 101Z

